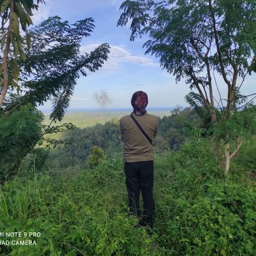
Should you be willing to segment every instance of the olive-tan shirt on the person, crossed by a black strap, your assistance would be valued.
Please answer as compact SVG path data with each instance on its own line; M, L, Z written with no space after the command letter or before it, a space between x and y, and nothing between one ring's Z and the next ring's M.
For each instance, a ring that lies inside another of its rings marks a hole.
M153 139L159 126L159 119L152 114L136 116L132 113L146 134ZM140 162L155 160L155 149L141 132L132 117L123 116L120 119L120 129L123 135L124 162Z

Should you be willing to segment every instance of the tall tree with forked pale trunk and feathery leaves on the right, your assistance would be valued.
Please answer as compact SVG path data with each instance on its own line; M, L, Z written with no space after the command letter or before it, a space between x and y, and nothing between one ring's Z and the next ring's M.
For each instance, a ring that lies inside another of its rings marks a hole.
M189 99L199 100L211 115L218 167L227 175L230 160L242 143L238 133L230 132L239 126L231 120L241 107L238 103L247 100L240 90L253 68L250 64L256 52L256 2L127 0L120 9L123 13L118 25L126 25L131 19L130 40L148 35L143 44L146 54L156 55L161 67L174 74L176 81L185 78L190 88L197 90ZM219 93L216 75L227 86L225 96ZM232 140L237 140L237 145L229 153Z

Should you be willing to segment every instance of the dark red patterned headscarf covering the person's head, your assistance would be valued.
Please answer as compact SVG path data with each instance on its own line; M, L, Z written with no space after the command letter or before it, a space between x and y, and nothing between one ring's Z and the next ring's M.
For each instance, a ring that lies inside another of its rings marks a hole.
M147 94L144 91L136 91L133 93L131 103L133 106L133 112L136 114L136 116L141 116L147 113L146 106L148 100Z

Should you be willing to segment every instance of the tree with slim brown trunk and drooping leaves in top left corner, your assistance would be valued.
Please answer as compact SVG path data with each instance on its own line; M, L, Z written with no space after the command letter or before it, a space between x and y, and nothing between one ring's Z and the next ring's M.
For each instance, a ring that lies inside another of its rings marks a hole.
M44 2L44 0L1 0L0 1L0 16L2 18L1 23L1 51L4 50L4 54L1 60L0 74L3 74L3 78L0 80L0 107L2 106L6 93L9 87L16 87L19 91L19 65L17 63L17 57L25 60L24 38L22 38L19 26L24 32L26 32L27 47L30 46L30 36L27 31L27 27L32 24L31 16L32 9L38 9L38 4ZM5 29L6 24L8 28ZM12 47L12 48L11 48ZM10 57L10 50L12 50L12 57Z

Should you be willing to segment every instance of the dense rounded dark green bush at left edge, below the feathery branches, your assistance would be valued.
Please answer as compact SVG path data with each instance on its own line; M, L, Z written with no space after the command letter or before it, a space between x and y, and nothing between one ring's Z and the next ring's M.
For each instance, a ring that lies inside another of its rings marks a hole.
M31 104L0 119L0 181L17 173L21 160L41 139L43 119Z

